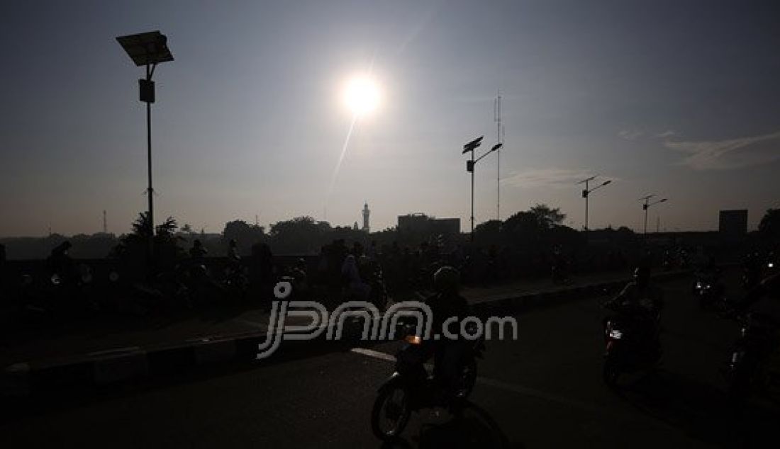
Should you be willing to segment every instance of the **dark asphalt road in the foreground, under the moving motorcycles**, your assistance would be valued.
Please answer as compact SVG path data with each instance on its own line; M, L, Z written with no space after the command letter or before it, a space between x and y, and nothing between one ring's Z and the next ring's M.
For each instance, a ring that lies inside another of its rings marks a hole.
M413 415L389 447L778 447L780 407L737 413L718 368L738 328L669 281L655 375L601 382L604 312L583 299L516 316L517 341L488 342L473 407ZM731 292L739 292L729 279ZM393 344L47 398L0 423L0 447L381 447L369 414ZM775 397L780 397L773 391ZM388 446L385 446L388 447Z

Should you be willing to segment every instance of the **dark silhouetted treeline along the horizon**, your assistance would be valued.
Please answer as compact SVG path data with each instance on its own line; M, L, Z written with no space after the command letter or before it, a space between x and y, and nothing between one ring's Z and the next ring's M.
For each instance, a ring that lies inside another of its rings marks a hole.
M627 248L639 242L639 236L629 228L605 228L592 230L588 235L563 225L566 214L558 208L537 204L529 210L513 214L503 221L491 220L477 225L474 237L477 246L489 248L498 246L521 253L548 252L552 247L559 246L566 253L578 253L587 244L590 246L612 246ZM148 227L146 214L132 224L128 234L96 233L92 235L78 234L73 236L53 234L48 237L16 237L0 239L0 245L5 246L5 257L14 259L44 259L51 249L68 240L73 244L70 256L76 259L100 259L108 256L127 256L129 253L140 253L148 242ZM759 231L753 233L754 240L760 240L763 246L776 246L780 243L780 210L770 209L761 220ZM290 220L278 221L266 229L263 226L249 224L246 221L234 220L225 224L220 234L194 232L189 224L179 227L176 219L168 217L155 230L155 245L163 253L174 258L183 256L195 239L200 239L212 256L225 255L226 247L231 239L235 239L239 253L249 255L252 246L264 243L275 254L314 254L319 253L322 246L334 240L345 242L360 242L368 246L376 242L379 247L419 246L422 242L439 242L444 237L446 246L470 244L470 236L461 235L427 235L424 232L403 232L387 228L370 235L349 226L332 226L325 221L316 221L312 217L295 217ZM587 241L586 241L587 239Z

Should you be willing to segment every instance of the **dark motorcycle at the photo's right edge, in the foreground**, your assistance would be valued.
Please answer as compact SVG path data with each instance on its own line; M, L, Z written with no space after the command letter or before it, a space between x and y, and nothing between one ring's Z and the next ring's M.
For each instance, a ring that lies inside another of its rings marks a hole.
M769 360L778 343L777 328L758 313L736 316L739 337L729 350L722 369L732 399L745 398L753 391L766 390L770 384Z

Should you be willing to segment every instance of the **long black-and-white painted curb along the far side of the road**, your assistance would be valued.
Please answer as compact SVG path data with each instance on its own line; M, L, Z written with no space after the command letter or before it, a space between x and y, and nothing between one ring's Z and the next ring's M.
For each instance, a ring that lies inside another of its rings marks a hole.
M657 280L668 280L690 274L690 271L662 273ZM619 281L574 285L554 291L525 292L473 304L477 316L498 316L564 302L586 299L604 292L614 292L626 284ZM279 351L262 362L274 362L289 356L313 356L352 347L350 342L324 338L308 341L285 340ZM144 348L116 348L87 355L44 362L18 362L0 372L0 396L27 397L40 392L69 387L101 387L145 378L186 373L200 366L228 362L257 362L258 347L268 339L266 332L215 335L178 343L151 345ZM363 341L365 345L366 342Z

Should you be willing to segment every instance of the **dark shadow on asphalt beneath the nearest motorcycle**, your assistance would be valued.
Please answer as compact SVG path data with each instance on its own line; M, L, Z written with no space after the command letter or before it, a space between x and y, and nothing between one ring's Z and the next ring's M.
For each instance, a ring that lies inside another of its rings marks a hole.
M441 424L424 424L420 433L385 442L383 449L423 448L484 448L516 449L523 444L510 443L498 423L483 408L469 403L463 415Z

